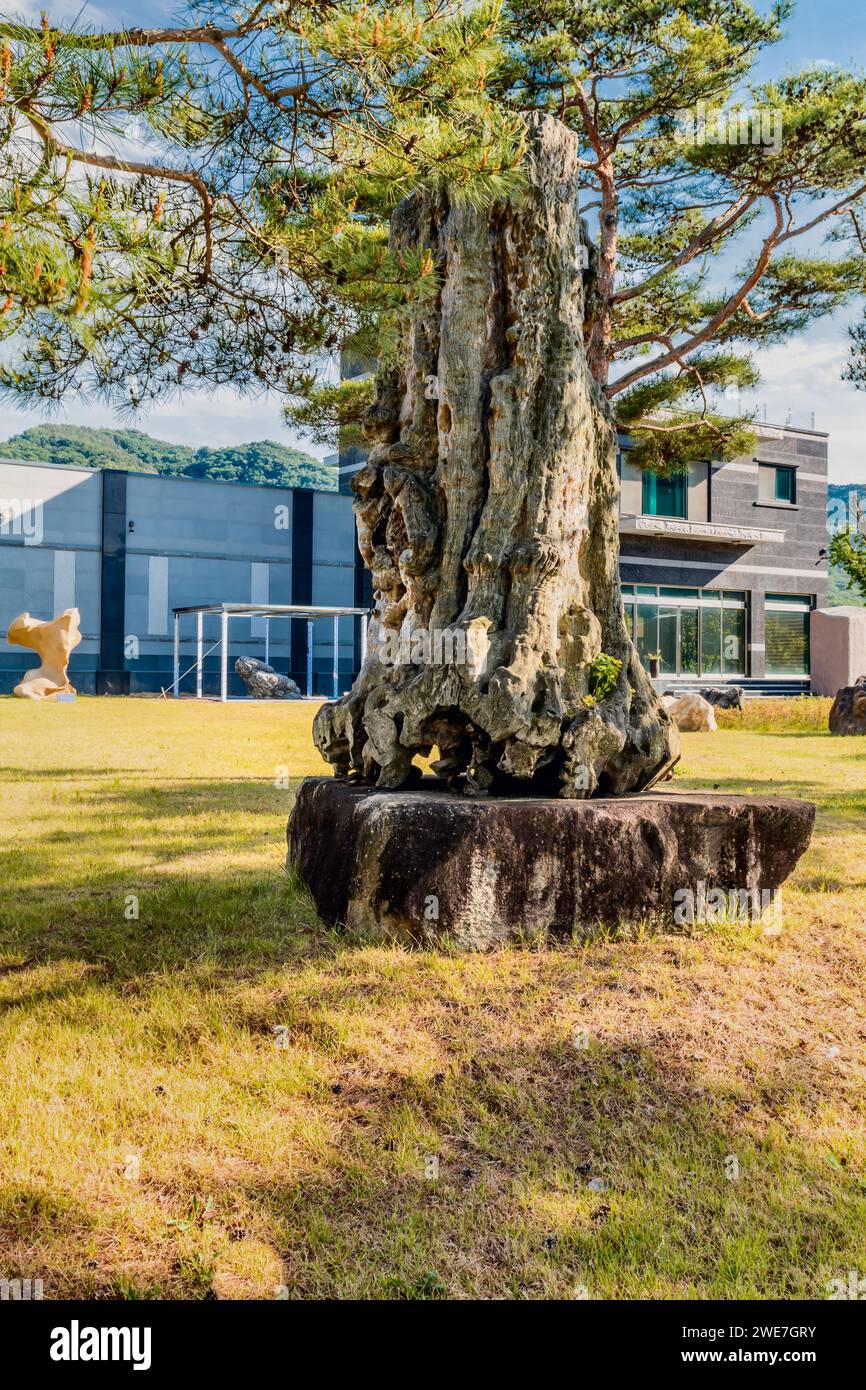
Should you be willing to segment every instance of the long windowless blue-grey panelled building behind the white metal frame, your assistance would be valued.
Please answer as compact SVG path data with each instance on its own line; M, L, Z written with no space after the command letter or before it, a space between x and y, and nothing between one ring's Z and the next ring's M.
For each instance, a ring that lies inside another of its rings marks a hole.
M0 694L33 664L3 641L21 612L53 617L78 607L83 641L70 676L82 694L138 694L171 685L172 610L203 603L361 606L368 580L348 498L336 492L245 486L145 473L53 467L0 459ZM195 628L182 669L195 662ZM206 649L220 624L209 617ZM232 621L231 691L238 656L264 656L264 621ZM304 688L307 624L272 619L271 664ZM339 624L341 684L360 664L360 621ZM332 692L332 621L314 626L313 689ZM188 677L182 692L192 692ZM204 692L218 689L218 653Z

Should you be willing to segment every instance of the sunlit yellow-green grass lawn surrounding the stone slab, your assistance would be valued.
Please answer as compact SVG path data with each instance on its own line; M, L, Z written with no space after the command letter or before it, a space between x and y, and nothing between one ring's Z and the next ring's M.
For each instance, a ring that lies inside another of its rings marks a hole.
M0 1276L820 1298L866 1275L866 739L769 708L684 735L680 785L819 803L781 934L450 956L341 940L285 878L275 780L321 770L311 717L0 701Z

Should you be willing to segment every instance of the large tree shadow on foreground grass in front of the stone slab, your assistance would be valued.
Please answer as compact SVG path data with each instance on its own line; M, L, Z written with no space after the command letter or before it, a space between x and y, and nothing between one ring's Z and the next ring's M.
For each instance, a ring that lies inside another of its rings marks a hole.
M343 1077L338 1097L343 1059L322 1061L339 1152L285 1182L232 1166L207 1183L217 1223L242 1194L291 1297L823 1298L860 1262L862 1182L780 1137L819 1093L809 1059L710 1086L670 1037L455 1048L439 1080Z

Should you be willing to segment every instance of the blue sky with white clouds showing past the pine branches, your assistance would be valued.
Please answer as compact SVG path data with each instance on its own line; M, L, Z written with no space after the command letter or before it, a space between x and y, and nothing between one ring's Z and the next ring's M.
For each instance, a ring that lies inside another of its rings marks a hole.
M760 7L760 0L758 0ZM81 0L19 0L7 13L39 15L47 10L56 19L68 19L82 11ZM232 6L227 4L227 14ZM784 43L770 50L758 67L759 78L778 74L784 67L799 68L810 63L866 67L866 24L863 0L799 0L787 25ZM95 25L165 22L178 7L163 0L139 4L111 4L110 0L83 7L83 17ZM808 425L815 414L815 428L830 432L830 475L837 482L866 482L866 392L855 391L841 379L847 359L845 325L856 311L826 320L794 342L760 353L762 384L748 402L759 417L784 423L791 414L795 424ZM0 439L38 424L38 411L0 404ZM70 424L111 425L111 410L93 404L70 404L60 416ZM324 450L297 439L286 430L277 399L243 399L221 392L215 399L188 395L179 402L153 406L142 413L138 427L177 443L222 445L250 439L281 439L299 443L311 453Z

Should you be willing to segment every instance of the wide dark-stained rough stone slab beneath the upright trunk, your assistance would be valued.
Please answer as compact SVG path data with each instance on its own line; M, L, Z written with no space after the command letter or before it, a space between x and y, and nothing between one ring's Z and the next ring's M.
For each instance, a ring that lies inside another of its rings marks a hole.
M331 926L487 949L670 922L677 890L699 883L774 890L813 823L810 802L784 796L468 799L432 780L392 792L310 777L289 820L288 862Z

